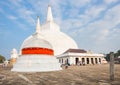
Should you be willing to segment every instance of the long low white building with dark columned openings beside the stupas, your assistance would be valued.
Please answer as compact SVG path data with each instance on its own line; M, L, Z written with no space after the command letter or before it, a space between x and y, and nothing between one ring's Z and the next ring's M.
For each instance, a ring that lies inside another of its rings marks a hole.
M69 50L73 50L72 52ZM102 64L107 63L105 62L103 54L95 54L92 52L81 52L81 49L69 49L68 52L65 52L59 56L59 62L62 64L69 64L69 65L78 65L80 64ZM76 50L78 52L76 52ZM83 50L82 50L83 51Z

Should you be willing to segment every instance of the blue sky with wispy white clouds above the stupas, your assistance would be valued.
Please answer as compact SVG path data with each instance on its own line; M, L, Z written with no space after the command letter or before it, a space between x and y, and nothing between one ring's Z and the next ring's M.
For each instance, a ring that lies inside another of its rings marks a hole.
M120 49L120 0L0 0L0 54L10 58L35 31L36 18L45 23L48 4L60 30L80 49L96 53Z

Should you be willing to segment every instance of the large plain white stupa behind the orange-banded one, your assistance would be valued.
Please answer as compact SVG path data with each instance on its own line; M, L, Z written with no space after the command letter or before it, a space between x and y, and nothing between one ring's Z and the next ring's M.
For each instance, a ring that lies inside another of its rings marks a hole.
M44 36L44 40L47 40L52 45L54 55L62 54L70 48L78 49L76 42L71 37L61 32L60 27L54 22L50 5L48 6L46 22L41 26L38 32ZM31 38L31 36L26 40L29 38Z

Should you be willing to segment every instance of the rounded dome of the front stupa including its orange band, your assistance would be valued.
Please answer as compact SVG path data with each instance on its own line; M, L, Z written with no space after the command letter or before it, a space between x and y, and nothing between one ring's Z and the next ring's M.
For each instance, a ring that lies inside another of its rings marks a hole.
M51 44L44 40L40 34L35 33L28 37L21 46L21 54L54 55Z

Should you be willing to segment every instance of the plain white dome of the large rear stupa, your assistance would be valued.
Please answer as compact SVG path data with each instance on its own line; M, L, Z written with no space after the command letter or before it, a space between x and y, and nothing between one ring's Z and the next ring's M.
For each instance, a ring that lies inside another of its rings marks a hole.
M63 32L52 32L49 30L49 32L44 31L41 34L52 45L54 55L60 55L70 48L78 48L76 42Z

